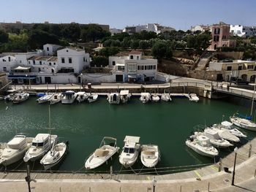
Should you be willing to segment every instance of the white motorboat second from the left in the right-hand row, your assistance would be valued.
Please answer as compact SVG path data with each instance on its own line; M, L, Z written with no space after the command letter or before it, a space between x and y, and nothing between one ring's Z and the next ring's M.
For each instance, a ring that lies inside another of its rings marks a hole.
M196 133L196 132L195 132ZM200 132L199 132L200 133ZM199 134L198 133L198 134ZM211 145L218 148L225 148L225 147L231 147L233 144L231 144L226 139L222 139L219 137L219 134L217 131L214 131L211 128L206 128L203 133L206 137L210 139ZM196 135L196 134L195 134Z

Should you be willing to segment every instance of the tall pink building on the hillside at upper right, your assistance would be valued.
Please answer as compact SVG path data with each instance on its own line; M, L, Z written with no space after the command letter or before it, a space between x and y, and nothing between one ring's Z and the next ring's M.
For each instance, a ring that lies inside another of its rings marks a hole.
M230 25L220 22L210 26L211 45L208 50L217 50L217 47L236 47L236 40L230 39Z

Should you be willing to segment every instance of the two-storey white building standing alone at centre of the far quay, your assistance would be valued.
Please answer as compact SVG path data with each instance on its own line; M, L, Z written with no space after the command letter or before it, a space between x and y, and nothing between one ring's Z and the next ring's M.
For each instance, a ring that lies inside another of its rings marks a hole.
M157 59L143 58L136 50L127 56L109 57L109 66L115 69L116 82L151 81L157 73Z

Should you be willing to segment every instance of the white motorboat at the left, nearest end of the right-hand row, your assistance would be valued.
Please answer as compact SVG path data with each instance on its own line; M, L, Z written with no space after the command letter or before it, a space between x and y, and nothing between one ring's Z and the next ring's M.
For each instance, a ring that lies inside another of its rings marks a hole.
M192 135L189 137L189 139L187 139L186 145L200 155L211 158L219 155L219 151L211 145L210 139L204 135Z

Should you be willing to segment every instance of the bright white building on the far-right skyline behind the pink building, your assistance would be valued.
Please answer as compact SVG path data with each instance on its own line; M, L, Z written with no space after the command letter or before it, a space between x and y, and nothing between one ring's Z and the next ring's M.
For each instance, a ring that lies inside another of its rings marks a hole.
M256 36L256 26L230 25L230 33L238 37Z

